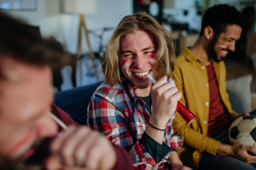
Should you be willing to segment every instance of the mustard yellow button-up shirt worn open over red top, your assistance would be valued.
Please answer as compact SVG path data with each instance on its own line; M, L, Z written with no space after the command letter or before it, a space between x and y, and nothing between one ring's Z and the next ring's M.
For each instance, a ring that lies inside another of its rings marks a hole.
M226 91L224 62L212 60L212 65L219 93L227 111L230 114L238 114L232 110ZM206 65L186 47L175 61L173 78L178 91L182 93L180 102L197 116L192 123L187 125L182 117L176 114L173 122L174 133L184 137L184 146L178 150L178 153L183 164L197 169L201 153L206 151L215 155L220 143L207 136L210 96Z

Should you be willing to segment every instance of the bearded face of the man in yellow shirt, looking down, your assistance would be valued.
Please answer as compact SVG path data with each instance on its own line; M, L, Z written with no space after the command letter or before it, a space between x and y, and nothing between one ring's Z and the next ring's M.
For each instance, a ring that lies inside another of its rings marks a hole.
M240 39L242 28L236 24L228 25L226 32L214 37L208 45L208 55L216 62L227 56L228 51L235 51L236 41Z

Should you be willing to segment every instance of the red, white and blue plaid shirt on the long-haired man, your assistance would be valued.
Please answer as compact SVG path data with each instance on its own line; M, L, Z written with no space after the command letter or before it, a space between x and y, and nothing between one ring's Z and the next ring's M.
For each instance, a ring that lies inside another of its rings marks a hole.
M169 154L159 163L140 143L150 115L145 102L137 95L131 82L124 85L109 85L103 82L91 97L87 112L87 125L107 136L115 144L124 147L130 154L136 170L155 170L163 167ZM151 105L152 110L152 105ZM166 125L163 142L171 149L183 146L182 136L172 136L172 122Z

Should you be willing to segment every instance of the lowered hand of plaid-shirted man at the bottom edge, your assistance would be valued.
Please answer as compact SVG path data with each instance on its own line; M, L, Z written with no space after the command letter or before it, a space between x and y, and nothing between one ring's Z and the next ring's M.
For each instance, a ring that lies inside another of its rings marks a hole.
M182 164L178 156L178 153L175 151L170 152L168 160L171 163L172 170L192 170L190 167L186 167Z

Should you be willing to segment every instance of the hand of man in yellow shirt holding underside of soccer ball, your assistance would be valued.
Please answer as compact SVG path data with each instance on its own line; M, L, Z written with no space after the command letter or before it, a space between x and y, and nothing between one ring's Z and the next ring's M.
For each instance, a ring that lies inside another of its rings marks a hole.
M217 153L223 156L233 156L248 164L256 163L256 156L250 155L247 151L256 152L256 147L235 143L232 145L220 143Z

